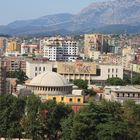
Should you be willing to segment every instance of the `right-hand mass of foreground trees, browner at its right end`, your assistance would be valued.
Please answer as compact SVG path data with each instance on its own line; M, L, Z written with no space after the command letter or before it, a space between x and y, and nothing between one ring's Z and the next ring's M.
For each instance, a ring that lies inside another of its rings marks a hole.
M62 140L139 140L140 105L91 102L62 122Z

